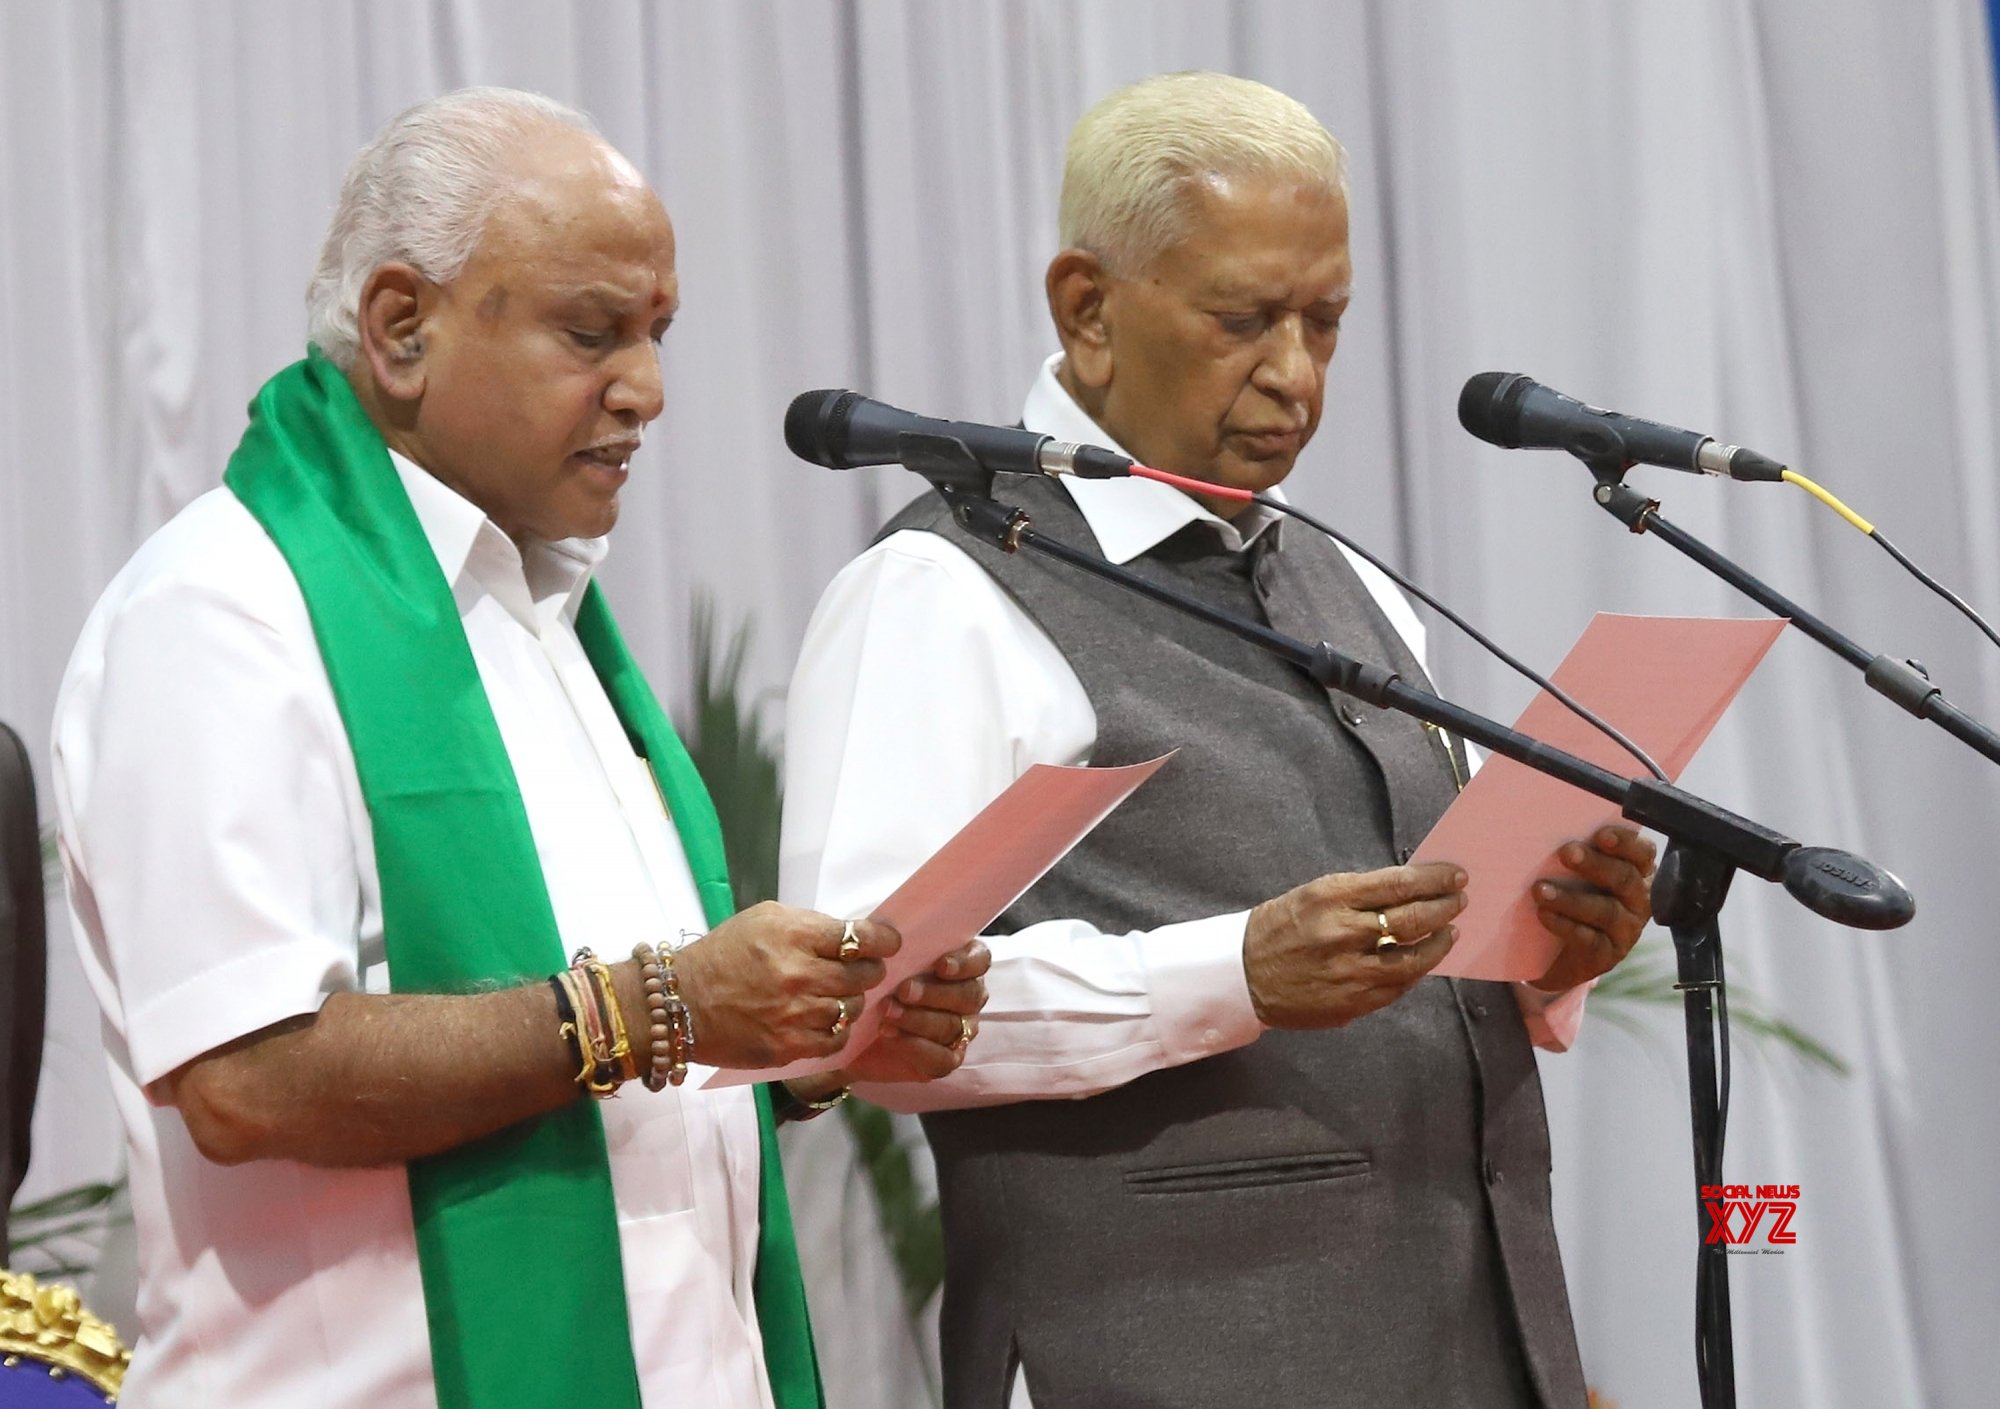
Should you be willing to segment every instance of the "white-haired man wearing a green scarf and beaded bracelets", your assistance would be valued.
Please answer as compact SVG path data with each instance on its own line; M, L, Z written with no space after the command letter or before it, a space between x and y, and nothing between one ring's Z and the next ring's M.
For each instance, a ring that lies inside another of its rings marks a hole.
M840 1053L900 941L734 915L590 584L676 304L588 120L412 108L348 174L308 358L92 612L54 777L130 1137L126 1405L820 1403L774 1107L952 1071L986 955L840 1073L702 1087Z

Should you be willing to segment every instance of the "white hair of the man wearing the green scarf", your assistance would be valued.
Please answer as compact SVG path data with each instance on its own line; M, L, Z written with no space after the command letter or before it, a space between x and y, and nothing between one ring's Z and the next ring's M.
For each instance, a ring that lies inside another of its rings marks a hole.
M370 274L404 262L438 284L458 278L506 190L510 154L546 128L598 136L576 108L518 88L460 88L390 120L340 186L306 284L306 338L352 370Z

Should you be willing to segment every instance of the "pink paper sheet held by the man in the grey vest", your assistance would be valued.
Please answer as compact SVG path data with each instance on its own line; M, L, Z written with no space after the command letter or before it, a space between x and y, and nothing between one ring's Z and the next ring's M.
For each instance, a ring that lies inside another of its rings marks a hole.
M1678 779L1784 626L1778 618L1598 612L1552 678ZM1514 729L1620 777L1644 775L1638 759L1546 690ZM1540 979L1554 963L1556 937L1542 929L1530 887L1570 875L1556 847L1612 821L1612 803L1512 759L1488 759L1416 849L1416 861L1456 861L1472 877L1458 943L1434 973Z

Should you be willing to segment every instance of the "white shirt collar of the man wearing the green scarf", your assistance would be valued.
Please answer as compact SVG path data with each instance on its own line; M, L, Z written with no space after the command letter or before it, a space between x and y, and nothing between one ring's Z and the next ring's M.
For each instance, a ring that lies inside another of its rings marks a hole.
M458 612L492 596L508 616L540 636L556 620L576 622L590 574L610 550L606 538L528 540L522 552L470 498L414 460L388 452L402 486L452 584Z

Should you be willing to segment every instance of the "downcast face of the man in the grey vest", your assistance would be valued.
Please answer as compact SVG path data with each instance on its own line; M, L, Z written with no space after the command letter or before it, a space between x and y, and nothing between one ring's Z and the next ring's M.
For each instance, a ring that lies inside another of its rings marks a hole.
M1098 420L1142 462L1264 490L1320 424L1354 264L1336 192L1210 176L1190 232L1108 278Z

